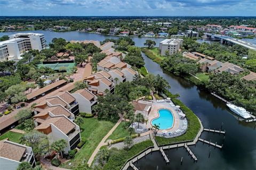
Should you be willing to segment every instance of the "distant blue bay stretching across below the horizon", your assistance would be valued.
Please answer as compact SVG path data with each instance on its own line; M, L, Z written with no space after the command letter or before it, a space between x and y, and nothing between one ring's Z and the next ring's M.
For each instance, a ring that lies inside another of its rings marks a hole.
M35 31L19 31L19 32L0 32L0 37L4 35L12 35L14 33L20 33L20 32L36 32L36 33L43 33L46 43L49 44L53 38L64 38L68 41L70 40L99 40L103 41L106 38L113 38L113 39L118 39L119 36L105 36L105 35L100 35L96 33L87 33L87 32L78 32L78 31L70 31L70 32L54 32L54 31L49 31L49 30L35 30ZM145 41L147 39L151 39L156 41L156 47L159 46L159 43L163 41L165 38L149 38L149 37L131 37L132 40L135 42L135 45L138 47L143 47ZM254 39L242 39L245 41L249 41L250 43L256 44L256 38ZM197 39L198 43L212 43L213 41L205 40L205 39Z

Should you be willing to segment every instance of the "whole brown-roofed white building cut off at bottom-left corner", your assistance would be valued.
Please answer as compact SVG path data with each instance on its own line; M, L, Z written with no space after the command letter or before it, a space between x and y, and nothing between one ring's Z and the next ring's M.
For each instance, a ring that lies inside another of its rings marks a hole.
M35 167L35 157L31 147L11 142L7 139L0 141L0 169L16 170L20 163L28 162Z

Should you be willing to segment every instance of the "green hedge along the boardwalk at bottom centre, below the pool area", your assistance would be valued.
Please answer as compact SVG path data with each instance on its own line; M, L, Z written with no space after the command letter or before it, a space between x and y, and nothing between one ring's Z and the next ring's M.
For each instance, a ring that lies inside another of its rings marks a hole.
M151 140L146 140L135 144L129 150L117 150L116 148L113 148L111 150L115 151L115 154L110 155L107 163L103 166L102 169L119 170L128 159L151 146L154 146L153 142Z

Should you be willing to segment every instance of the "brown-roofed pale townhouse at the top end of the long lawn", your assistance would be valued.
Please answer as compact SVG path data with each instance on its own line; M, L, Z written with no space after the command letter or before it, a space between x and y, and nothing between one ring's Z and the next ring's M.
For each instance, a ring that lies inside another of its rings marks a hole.
M77 90L72 96L81 104L79 105L80 112L92 113L92 106L97 105L97 96L87 89Z

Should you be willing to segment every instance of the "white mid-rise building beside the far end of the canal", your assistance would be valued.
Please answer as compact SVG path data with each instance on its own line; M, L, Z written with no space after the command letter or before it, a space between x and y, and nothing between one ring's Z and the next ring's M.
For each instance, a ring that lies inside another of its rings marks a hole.
M160 54L162 56L165 56L166 51L169 54L177 53L177 51L180 49L180 46L183 42L183 39L165 39L159 43L159 50Z

